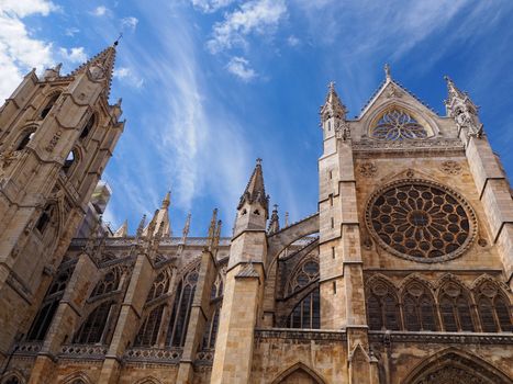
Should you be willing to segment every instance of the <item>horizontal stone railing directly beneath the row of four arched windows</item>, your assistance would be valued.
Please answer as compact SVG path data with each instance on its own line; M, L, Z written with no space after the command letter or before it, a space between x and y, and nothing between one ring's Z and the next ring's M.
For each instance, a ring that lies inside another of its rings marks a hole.
M460 343L460 345L513 345L513 334L482 332L436 332L436 331L369 331L372 342L419 342L419 343Z

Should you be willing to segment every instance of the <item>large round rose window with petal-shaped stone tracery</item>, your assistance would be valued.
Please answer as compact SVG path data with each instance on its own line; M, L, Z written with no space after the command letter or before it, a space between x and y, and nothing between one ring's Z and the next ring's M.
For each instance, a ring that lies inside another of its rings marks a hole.
M388 251L428 262L459 256L476 233L475 214L456 192L420 180L395 182L375 194L366 221Z

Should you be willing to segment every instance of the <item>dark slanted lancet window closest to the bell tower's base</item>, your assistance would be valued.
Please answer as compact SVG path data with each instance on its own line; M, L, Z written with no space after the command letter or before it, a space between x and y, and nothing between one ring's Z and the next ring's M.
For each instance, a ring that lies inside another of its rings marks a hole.
M59 301L63 297L66 285L71 276L74 267L68 267L57 273L57 276L54 279L52 285L46 292L41 309L32 323L31 329L29 330L27 340L44 340L49 325L52 324L52 319L54 318L55 312L59 305Z

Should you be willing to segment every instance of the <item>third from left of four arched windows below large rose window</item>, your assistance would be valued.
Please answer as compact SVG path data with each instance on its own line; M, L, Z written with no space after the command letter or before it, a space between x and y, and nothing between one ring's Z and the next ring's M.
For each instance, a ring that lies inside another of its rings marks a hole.
M475 325L470 314L468 292L453 282L443 286L440 292L439 308L444 330L473 332Z

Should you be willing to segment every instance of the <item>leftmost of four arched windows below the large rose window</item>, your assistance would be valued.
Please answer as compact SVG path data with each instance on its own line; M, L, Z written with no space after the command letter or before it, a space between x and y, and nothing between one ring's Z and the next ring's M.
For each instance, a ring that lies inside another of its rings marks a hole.
M371 330L399 330L399 302L395 289L380 280L371 282L367 295L367 316Z

